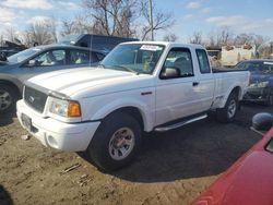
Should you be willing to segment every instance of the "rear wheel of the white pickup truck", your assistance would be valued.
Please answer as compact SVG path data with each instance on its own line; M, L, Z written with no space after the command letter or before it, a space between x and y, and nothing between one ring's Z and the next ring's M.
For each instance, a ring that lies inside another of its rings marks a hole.
M236 93L232 93L226 101L226 105L224 108L216 110L216 118L219 122L227 123L232 122L235 119L235 116L238 110L238 97Z

